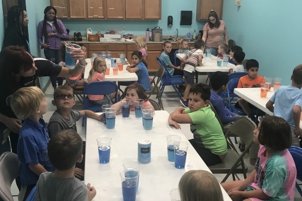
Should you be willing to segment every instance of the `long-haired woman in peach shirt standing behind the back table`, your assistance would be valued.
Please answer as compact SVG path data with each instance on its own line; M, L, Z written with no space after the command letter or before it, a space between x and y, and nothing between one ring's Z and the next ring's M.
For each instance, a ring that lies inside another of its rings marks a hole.
M226 31L226 25L218 19L215 11L210 11L208 22L203 27L202 40L205 42L205 48L211 50L211 54L218 55L218 45L225 42L228 45L229 37Z

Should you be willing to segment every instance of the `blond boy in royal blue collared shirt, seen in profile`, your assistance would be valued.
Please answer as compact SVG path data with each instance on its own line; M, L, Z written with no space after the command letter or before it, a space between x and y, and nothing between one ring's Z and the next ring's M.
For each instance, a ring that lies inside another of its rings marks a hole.
M53 171L46 151L49 140L42 115L47 112L43 92L36 86L18 89L7 99L18 119L24 120L18 140L18 159L21 162L19 200L25 200L42 172Z

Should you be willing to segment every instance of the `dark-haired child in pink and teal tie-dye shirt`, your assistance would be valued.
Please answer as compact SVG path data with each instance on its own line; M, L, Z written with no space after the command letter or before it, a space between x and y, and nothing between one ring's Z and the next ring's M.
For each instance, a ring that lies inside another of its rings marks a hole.
M221 183L233 200L293 200L296 167L287 148L291 144L289 124L267 116L254 131L260 143L255 169L245 180Z

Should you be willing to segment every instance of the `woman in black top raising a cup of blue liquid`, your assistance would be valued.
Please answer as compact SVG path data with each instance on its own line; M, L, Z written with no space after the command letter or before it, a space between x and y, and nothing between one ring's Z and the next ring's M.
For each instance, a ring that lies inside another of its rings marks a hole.
M0 52L0 155L10 151L10 143L7 137L4 138L4 133L10 133L12 151L17 153L18 133L22 127L21 121L6 104L7 97L21 87L34 86L38 77L74 77L80 74L87 65L83 50L72 50L70 56L79 60L74 69L63 68L43 58L33 59L18 46L8 46Z

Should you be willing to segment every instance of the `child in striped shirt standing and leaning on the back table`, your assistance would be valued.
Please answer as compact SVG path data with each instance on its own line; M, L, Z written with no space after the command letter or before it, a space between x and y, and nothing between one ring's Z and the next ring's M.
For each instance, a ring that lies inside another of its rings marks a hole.
M184 56L181 61L185 62L184 67L184 77L186 89L184 92L184 96L180 99L180 103L187 108L188 107L188 95L190 91L190 87L194 84L194 76L195 76L195 67L202 66L202 58L203 58L203 50L204 50L204 41L197 40L194 43L194 50L191 50L188 55Z

